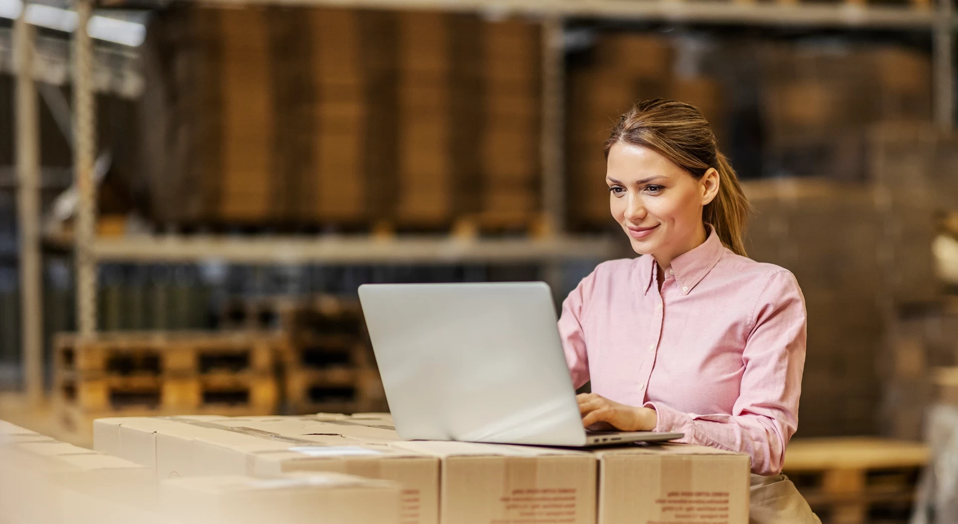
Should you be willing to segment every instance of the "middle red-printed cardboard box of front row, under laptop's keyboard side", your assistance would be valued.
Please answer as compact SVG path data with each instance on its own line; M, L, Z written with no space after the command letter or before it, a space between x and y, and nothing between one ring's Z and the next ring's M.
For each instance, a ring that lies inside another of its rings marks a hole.
M438 441L390 445L442 459L444 524L595 522L596 460L587 452Z

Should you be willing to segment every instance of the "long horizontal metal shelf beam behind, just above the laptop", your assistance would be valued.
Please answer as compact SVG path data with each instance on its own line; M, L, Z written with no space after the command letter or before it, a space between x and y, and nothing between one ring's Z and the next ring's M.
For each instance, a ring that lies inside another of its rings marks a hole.
M615 256L614 239L445 239L144 235L97 239L97 262L460 263L548 262Z

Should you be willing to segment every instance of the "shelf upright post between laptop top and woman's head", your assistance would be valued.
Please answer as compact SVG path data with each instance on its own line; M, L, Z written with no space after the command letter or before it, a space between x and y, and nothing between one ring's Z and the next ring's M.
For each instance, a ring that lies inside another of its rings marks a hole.
M542 21L542 211L546 235L565 232L565 162L562 158L565 113L564 19L547 15ZM562 263L547 261L542 279L559 293Z

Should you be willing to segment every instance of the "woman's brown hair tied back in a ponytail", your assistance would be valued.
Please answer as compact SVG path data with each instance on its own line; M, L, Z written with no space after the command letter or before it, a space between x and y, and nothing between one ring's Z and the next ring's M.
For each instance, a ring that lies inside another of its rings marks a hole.
M749 212L748 199L696 106L663 99L636 103L612 128L605 141L605 158L609 148L619 142L650 148L689 171L696 180L709 168L719 171L719 194L702 209L702 221L715 226L719 239L729 249L745 256L741 237Z

